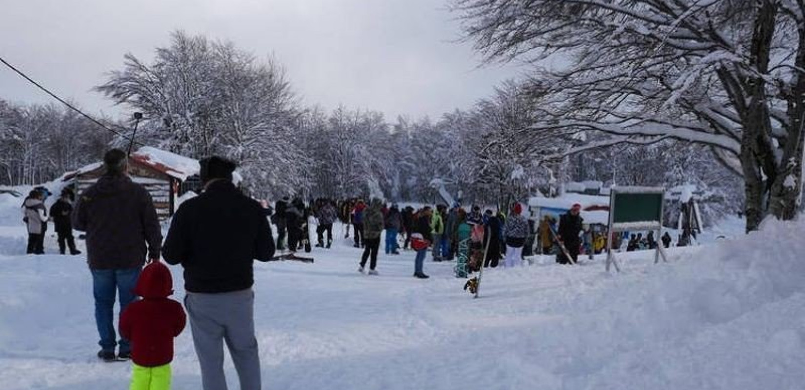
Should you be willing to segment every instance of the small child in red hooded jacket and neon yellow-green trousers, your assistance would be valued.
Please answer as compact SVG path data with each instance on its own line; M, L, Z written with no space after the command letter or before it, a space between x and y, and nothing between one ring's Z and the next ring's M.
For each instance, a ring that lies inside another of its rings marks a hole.
M161 261L146 265L134 287L141 300L131 302L120 317L120 334L131 341L130 390L171 388L173 339L182 333L186 317L173 294L171 272Z

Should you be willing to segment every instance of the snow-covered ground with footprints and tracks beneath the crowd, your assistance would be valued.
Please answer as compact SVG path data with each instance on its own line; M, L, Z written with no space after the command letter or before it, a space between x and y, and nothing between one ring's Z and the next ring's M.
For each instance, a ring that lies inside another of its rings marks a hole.
M85 259L21 254L19 202L0 200L0 388L127 388L128 363L94 358ZM617 275L547 257L493 269L477 300L451 262L412 278L412 252L361 275L360 251L335 233L314 264L255 265L264 388L805 388L803 222L672 248L667 264L624 253ZM173 388L200 388L189 329L175 345Z

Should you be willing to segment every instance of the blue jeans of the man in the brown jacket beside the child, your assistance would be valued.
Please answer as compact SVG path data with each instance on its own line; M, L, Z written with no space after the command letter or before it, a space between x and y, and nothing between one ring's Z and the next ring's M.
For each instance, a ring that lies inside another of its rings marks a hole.
M123 310L126 310L126 306L134 301L135 295L132 290L134 285L137 285L140 270L140 267L132 269L90 269L93 273L95 326L98 328L98 335L101 336L101 341L98 342L98 345L104 351L114 352L114 347L117 345L114 341L117 335L115 335L114 325L112 324L115 290L117 289L120 293L120 313L122 313ZM120 352L130 351L129 340L121 338Z

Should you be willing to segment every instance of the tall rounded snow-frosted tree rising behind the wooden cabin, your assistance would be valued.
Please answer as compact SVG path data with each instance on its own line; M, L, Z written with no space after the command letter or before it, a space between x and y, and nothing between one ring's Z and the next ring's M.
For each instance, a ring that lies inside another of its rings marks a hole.
M142 139L192 158L220 154L241 166L260 195L308 191L298 103L282 68L233 43L171 35L153 64L125 56L97 91L143 113Z

